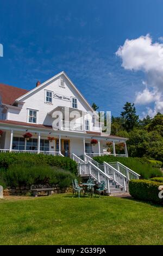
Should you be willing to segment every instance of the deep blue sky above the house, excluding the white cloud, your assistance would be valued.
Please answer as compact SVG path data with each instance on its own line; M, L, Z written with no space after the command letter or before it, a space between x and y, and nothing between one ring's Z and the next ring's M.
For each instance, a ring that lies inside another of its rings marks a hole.
M90 103L114 115L146 78L121 66L118 47L163 36L161 0L0 0L0 8L1 83L32 89L64 70ZM146 107L136 104L137 113Z

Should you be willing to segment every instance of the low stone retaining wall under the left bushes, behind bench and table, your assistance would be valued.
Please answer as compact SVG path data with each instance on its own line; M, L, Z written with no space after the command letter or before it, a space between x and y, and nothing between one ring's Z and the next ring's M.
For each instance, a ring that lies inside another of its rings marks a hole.
M52 194L60 194L60 193L67 193L71 189L69 187L62 187L60 188L57 185L54 186L54 191L52 191ZM3 190L3 196L25 196L26 194L29 194L30 192L30 186L21 186L21 187L7 187ZM46 192L40 192L39 194L46 194Z

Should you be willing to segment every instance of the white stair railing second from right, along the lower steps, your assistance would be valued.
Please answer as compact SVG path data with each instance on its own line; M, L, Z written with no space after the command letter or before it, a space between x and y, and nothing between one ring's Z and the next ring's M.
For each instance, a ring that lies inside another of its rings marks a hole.
M108 174L118 185L121 185L126 191L127 177L112 167L109 163L104 162L104 173Z

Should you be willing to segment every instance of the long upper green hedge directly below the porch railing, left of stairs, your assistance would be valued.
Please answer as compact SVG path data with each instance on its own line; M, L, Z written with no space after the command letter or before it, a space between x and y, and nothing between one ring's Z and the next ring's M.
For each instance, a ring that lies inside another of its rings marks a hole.
M0 154L0 168L8 169L10 164L25 163L28 167L35 165L49 165L57 166L62 169L68 170L74 174L77 174L77 163L69 157L52 156L52 155L32 155L32 154L14 154L14 153L1 153Z

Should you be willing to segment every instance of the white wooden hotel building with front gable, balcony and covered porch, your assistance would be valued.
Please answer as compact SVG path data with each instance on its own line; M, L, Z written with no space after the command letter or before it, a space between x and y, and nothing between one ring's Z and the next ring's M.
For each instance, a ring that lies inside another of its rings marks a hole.
M128 156L127 138L108 136L95 125L96 113L64 71L30 91L0 84L0 95L0 151L93 156L105 154L110 141L114 155L115 144L124 143ZM27 132L29 140L23 137Z

